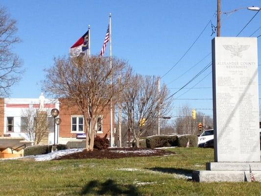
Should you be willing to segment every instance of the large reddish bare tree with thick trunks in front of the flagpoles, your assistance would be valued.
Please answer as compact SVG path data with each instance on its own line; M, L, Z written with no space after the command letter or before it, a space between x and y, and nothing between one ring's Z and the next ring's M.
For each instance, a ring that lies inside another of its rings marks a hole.
M119 78L124 84L128 69L124 60L113 58L110 69L110 58L92 56L88 62L82 57L55 58L54 65L46 70L44 91L66 98L83 114L87 150L93 150L99 115L110 107L111 101L116 102L121 89Z

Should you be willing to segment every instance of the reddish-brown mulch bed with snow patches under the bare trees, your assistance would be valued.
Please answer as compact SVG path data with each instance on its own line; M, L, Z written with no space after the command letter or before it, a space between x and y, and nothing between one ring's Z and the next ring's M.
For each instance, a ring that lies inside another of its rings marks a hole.
M118 159L125 157L164 156L170 154L175 154L175 152L151 148L109 148L105 150L94 149L93 151L84 150L82 152L67 154L65 156L56 158L55 160L88 158Z

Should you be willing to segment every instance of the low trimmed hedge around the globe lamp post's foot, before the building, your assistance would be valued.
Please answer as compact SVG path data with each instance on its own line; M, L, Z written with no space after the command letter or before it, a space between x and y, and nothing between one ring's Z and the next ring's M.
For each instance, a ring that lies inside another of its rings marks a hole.
M68 147L64 144L56 145L57 150L68 149ZM34 145L30 147L24 148L24 156L28 155L39 155L39 154L47 154L51 152L52 145Z

